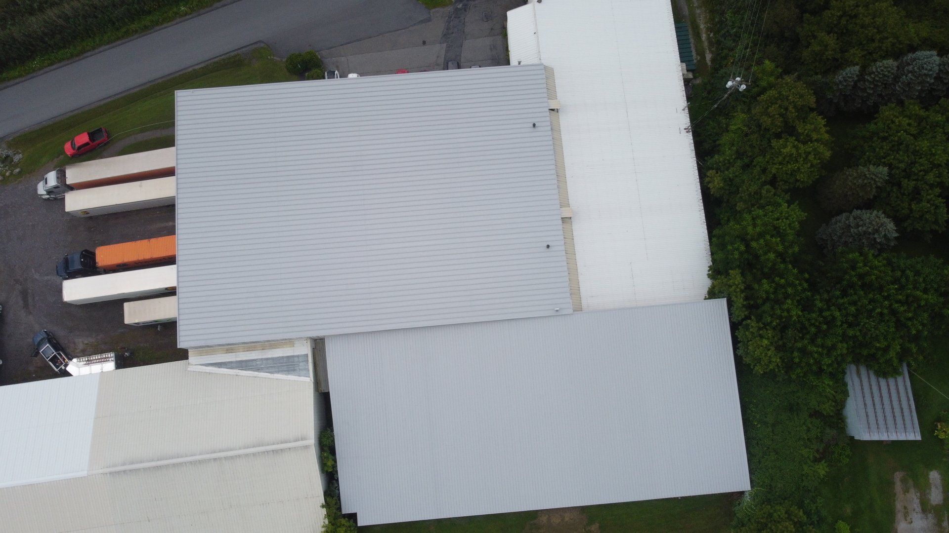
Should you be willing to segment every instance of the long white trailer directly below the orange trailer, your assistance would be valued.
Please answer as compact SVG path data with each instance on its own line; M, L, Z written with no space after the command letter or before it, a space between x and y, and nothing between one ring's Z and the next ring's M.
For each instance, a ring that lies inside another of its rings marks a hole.
M63 282L63 302L94 303L152 296L177 289L177 265L126 270Z

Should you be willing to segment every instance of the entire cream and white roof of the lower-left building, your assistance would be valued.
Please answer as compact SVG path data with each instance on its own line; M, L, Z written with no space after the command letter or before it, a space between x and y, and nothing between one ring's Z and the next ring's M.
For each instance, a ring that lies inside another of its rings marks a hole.
M0 387L5 530L316 530L312 383L187 369Z

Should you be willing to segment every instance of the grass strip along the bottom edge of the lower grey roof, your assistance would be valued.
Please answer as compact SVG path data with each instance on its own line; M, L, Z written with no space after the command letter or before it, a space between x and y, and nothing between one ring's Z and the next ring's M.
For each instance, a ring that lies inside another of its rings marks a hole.
M711 494L649 502L588 505L581 508L586 526L596 525L600 533L668 533L728 531L733 516L730 494ZM557 511L553 511L556 513ZM537 520L536 511L507 513L404 524L360 527L360 533L548 533ZM567 531L554 524L550 533ZM572 529L571 529L572 530Z

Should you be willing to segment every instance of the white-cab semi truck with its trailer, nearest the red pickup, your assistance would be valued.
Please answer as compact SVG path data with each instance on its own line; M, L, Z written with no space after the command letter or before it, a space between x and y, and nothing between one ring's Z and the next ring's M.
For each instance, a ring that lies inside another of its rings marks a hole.
M175 175L175 154L174 147L162 148L66 165L44 176L36 193L53 200L70 191Z

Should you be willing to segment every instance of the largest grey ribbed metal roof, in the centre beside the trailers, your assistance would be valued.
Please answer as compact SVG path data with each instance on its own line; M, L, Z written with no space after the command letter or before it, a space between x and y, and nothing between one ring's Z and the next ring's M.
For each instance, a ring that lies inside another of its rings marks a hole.
M176 94L180 346L570 312L542 66Z

